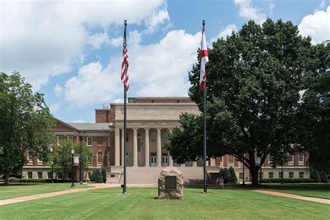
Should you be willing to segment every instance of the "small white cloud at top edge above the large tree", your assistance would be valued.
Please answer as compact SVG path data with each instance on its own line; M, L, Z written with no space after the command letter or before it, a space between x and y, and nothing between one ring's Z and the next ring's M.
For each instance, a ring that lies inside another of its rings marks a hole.
M259 8L251 6L251 0L234 0L234 2L236 6L239 6L239 16L252 19L258 24L267 19L267 16ZM272 2L269 4L271 4L269 7L272 9L275 7Z

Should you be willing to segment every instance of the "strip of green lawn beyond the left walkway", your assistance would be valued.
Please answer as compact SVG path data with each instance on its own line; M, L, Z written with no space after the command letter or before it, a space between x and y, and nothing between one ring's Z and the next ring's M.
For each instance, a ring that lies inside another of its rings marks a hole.
M67 189L72 189L70 187L71 183L22 183L22 184L12 184L5 186L0 185L0 200L6 198L15 198L19 196L30 196L34 194L43 194L47 192L58 192ZM75 188L86 188L90 187L87 184L79 185L75 184Z

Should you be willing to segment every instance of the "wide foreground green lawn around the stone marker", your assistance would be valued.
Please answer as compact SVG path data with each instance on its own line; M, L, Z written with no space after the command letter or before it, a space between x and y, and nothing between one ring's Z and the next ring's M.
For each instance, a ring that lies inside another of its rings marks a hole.
M329 219L330 205L240 189L184 189L160 201L157 188L93 189L0 206L1 219Z

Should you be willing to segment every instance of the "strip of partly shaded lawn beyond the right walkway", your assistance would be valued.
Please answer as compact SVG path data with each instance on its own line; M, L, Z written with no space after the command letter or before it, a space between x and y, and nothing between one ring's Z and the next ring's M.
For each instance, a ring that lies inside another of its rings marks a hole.
M275 192L285 192L301 196L312 196L330 199L330 184L328 183L301 183L301 184L271 184L262 185L261 189Z

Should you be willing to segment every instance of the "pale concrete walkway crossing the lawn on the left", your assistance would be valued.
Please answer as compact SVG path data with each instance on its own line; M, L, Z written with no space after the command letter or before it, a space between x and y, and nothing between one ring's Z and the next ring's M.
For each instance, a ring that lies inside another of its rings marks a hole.
M88 191L91 189L103 189L103 188L108 188L108 187L117 187L116 185L110 185L110 184L104 184L104 183L92 183L88 184L91 187L90 188L83 188L83 189L68 189L68 190L63 190L59 192L49 192L45 194L35 194L31 196L22 196L22 197L16 197L16 198L8 198L8 199L3 199L0 200L0 205L7 205L11 203L19 203L19 202L24 202L24 201L30 201L38 198L47 198L51 196L60 196L64 194L69 194L72 192L84 192Z

